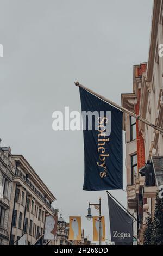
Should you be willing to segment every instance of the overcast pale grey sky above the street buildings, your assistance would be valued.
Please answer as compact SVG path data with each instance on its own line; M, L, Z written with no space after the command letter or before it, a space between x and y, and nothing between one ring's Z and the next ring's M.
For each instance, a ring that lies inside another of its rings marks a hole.
M117 103L132 91L133 65L148 59L152 2L0 0L1 145L26 157L66 221L82 216L90 239L87 203L100 196L110 237L106 192L82 190L83 132L53 131L52 113L80 111L76 80ZM126 188L125 170L124 181ZM125 192L114 194L126 204Z

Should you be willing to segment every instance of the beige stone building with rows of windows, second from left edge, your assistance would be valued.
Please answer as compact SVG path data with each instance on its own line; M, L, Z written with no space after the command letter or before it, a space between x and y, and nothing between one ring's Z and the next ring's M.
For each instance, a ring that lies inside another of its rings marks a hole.
M16 170L12 186L9 230L10 245L26 236L26 245L33 245L44 233L45 216L54 215L55 197L22 155L12 155Z

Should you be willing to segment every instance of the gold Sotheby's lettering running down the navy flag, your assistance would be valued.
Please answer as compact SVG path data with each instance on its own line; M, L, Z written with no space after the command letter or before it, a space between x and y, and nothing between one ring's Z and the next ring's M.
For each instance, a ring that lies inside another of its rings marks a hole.
M108 123L108 118L106 117L99 117L98 118L98 153L99 153L99 160L100 162L97 162L97 165L102 169L102 171L99 173L99 175L101 176L101 178L105 178L107 175L107 170L106 170L106 157L109 157L109 154L105 153L106 149L105 149L105 143L109 142L109 138L106 138L107 135L105 133L106 131L106 127L105 124Z

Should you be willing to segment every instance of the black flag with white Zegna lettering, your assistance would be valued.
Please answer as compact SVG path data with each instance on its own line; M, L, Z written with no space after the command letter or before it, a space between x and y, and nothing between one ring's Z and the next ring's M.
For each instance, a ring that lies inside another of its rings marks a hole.
M111 241L116 244L133 243L133 218L131 218L108 194Z

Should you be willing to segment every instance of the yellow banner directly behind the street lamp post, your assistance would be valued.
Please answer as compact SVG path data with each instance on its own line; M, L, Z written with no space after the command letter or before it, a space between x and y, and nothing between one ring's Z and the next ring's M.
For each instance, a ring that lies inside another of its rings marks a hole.
M105 217L101 217L101 237L105 241ZM99 241L99 216L93 217L93 241Z

